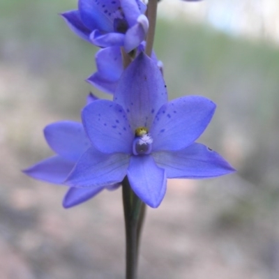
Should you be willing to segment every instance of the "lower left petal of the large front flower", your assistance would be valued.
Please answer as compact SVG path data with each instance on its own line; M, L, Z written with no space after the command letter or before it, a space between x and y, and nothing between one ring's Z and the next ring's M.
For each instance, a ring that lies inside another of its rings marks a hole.
M82 155L65 183L80 188L119 183L126 176L129 160L130 156L125 153L105 154L92 146Z

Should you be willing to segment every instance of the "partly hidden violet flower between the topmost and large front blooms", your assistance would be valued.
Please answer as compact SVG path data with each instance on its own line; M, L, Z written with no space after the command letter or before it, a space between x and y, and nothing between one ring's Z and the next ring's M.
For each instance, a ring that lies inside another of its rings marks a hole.
M144 51L145 42L137 47L135 56ZM163 63L158 61L155 52L151 53L151 59L163 70ZM86 81L96 88L107 93L114 93L119 79L123 73L123 61L120 47L106 47L99 50L95 56L97 71Z

